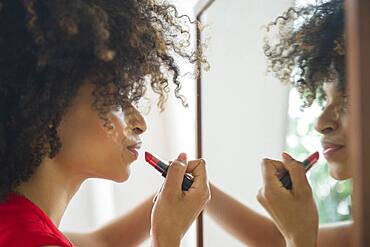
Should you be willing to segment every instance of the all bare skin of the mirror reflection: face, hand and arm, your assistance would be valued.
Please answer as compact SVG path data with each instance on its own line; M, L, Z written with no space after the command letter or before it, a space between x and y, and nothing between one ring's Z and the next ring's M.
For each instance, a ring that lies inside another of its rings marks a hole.
M342 111L343 96L335 86L335 83L325 85L327 104L315 127L322 134L330 175L343 180L351 177L346 148L348 124L346 112ZM212 199L206 207L207 213L248 246L351 246L352 222L319 226L304 170L298 161L284 156L283 161L262 162L264 187L257 199L272 219L242 205L214 185L211 185ZM276 175L280 169L290 172L296 184L292 191L281 186Z

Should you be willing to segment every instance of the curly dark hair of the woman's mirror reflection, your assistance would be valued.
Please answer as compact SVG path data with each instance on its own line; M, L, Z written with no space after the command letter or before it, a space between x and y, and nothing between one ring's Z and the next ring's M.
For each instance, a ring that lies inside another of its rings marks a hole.
M264 52L269 71L298 89L302 107L315 99L322 103L325 82L337 81L345 95L343 0L289 8L267 25L267 31Z

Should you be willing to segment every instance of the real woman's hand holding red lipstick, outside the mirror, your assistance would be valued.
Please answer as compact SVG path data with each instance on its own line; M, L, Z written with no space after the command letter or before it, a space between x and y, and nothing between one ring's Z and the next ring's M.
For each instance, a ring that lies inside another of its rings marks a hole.
M188 191L181 190L185 173L194 177ZM209 199L205 161L187 162L186 154L180 154L168 168L164 185L155 199L151 218L153 246L180 246L183 235Z

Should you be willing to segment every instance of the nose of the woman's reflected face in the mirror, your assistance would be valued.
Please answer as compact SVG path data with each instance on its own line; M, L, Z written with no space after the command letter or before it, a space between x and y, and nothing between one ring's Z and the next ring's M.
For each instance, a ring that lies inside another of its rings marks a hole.
M316 119L315 129L317 132L327 135L338 129L338 113L336 113L335 107L326 107L320 116Z

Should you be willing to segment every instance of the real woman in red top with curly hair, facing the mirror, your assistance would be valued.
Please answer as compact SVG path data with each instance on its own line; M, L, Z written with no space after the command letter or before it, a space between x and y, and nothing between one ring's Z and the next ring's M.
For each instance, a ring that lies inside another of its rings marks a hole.
M185 154L154 206L91 233L57 227L84 180L129 177L147 82L161 109L170 81L185 103L173 56L194 59L181 23L151 0L0 1L0 246L137 246L149 230L153 246L180 245L210 195L204 161Z

